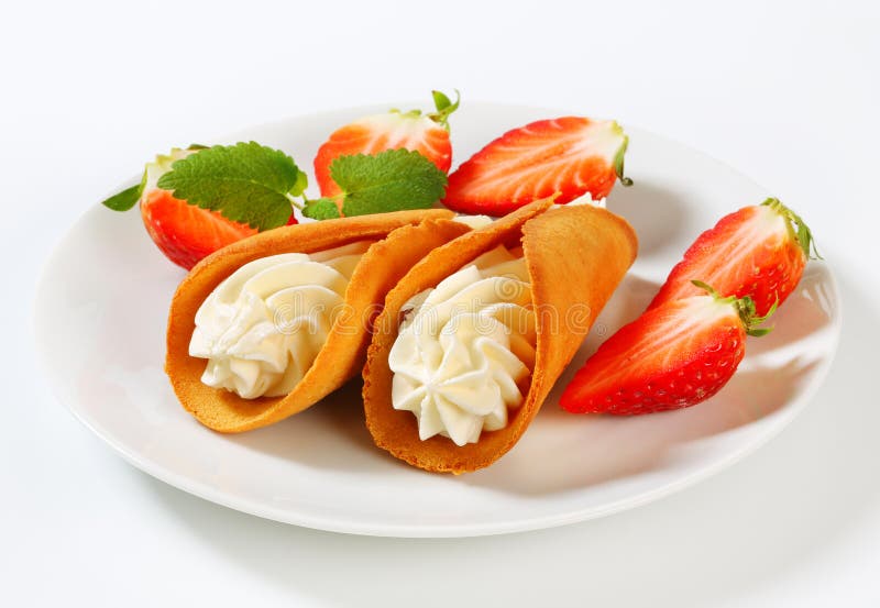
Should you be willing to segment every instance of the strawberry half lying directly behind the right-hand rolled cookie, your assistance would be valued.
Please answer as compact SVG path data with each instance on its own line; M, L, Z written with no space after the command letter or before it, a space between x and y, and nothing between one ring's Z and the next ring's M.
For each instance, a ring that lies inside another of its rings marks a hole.
M503 215L558 195L565 203L590 192L608 196L625 186L628 139L614 121L564 117L539 120L490 142L449 176L443 204L464 213Z

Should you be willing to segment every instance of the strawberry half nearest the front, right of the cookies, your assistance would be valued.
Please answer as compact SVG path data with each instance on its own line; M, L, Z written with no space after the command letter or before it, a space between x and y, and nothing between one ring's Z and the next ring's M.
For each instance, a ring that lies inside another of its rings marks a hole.
M650 413L686 408L715 395L746 353L746 335L767 317L751 298L710 295L668 301L620 328L565 387L575 413ZM771 311L772 312L772 311Z

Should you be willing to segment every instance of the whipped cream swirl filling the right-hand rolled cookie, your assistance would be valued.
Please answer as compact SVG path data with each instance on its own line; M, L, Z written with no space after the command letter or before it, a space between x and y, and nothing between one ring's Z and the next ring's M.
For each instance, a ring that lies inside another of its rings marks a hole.
M507 425L535 366L535 313L521 250L485 253L413 297L392 346L392 405L418 419L419 438L457 445Z

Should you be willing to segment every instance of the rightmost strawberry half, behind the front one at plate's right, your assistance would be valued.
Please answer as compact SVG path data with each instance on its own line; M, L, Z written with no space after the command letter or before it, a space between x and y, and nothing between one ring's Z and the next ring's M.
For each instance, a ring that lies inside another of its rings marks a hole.
M811 248L810 229L779 200L745 207L697 237L648 308L700 294L691 283L700 279L724 296L750 296L767 314L798 286Z

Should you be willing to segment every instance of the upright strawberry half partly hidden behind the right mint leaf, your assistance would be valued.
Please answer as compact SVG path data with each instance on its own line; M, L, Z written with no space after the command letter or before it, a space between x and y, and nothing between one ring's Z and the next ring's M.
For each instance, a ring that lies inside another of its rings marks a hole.
M340 194L330 176L330 164L338 156L376 154L386 150L406 148L421 153L437 168L449 172L452 145L449 142L449 115L459 107L440 91L432 91L437 111L422 114L420 110L391 110L355 120L337 129L318 150L315 177L322 197Z

